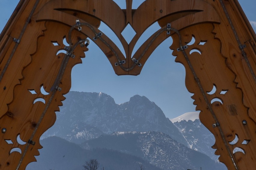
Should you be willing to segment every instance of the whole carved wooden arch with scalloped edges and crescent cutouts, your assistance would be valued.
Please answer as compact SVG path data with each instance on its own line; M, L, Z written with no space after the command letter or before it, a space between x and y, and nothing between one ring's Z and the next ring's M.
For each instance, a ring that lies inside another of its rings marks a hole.
M101 21L116 33L126 56L98 29ZM154 22L161 29L131 56ZM136 31L129 44L121 34L127 24ZM20 0L0 35L0 169L23 170L36 161L39 138L56 120L72 67L88 50L87 37L117 75L138 75L169 36L200 120L215 136L215 154L229 170L255 169L256 36L237 0L146 0L136 10L132 0L126 9L112 0ZM195 43L187 45L192 37ZM230 144L236 136L238 142Z

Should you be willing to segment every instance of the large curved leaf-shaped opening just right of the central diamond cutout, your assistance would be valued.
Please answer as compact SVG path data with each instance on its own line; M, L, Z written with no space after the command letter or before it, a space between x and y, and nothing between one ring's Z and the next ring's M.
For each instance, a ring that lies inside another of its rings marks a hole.
M139 37L138 41L136 42L134 48L133 48L133 52L132 52L132 56L136 53L136 51L142 46L142 44L145 42L145 40L149 39L151 35L153 35L155 32L157 32L158 30L160 30L161 27L159 26L158 22L155 22L154 24L150 25L145 31L144 33L142 33L142 35ZM169 38L168 38L169 39ZM170 38L172 39L172 38ZM172 44L172 41L169 42L170 44ZM136 58L136 57L135 57Z

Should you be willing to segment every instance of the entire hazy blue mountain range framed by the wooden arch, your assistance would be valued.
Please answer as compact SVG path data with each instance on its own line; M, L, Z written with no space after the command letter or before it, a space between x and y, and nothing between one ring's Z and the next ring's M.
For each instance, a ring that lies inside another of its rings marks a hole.
M194 119L189 114L179 117L182 121L174 125L154 102L144 96L135 95L129 102L119 105L104 93L71 91L65 97L60 112L56 112L55 125L41 137L44 148L37 160L39 165L48 166L43 166L44 169L69 167L75 170L82 160L84 163L89 158L96 158L105 168L113 170L136 169L135 166L141 163L152 170L226 169L223 164L216 163L215 158L212 160L197 152L212 156L214 151L209 154L207 150L211 146L210 136L207 136L209 131L199 120L189 120ZM74 143L87 150L79 149ZM66 158L73 166L65 166ZM32 165L30 168L37 169L38 164Z

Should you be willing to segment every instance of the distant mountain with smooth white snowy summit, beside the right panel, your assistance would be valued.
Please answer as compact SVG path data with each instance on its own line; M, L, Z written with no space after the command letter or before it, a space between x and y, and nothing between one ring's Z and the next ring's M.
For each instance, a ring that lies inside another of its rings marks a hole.
M198 115L199 112L189 112L171 119L171 121L183 134L191 149L206 154L217 161L219 156L214 154L215 149L211 147L215 143L215 137L200 122Z

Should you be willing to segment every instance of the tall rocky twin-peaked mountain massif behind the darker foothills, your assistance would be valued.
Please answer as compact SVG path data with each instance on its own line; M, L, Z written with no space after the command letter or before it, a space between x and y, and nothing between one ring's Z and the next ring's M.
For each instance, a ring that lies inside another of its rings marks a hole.
M41 139L55 135L79 144L116 131L158 131L189 146L163 111L145 96L135 95L119 105L104 93L71 91L65 97L55 125Z

